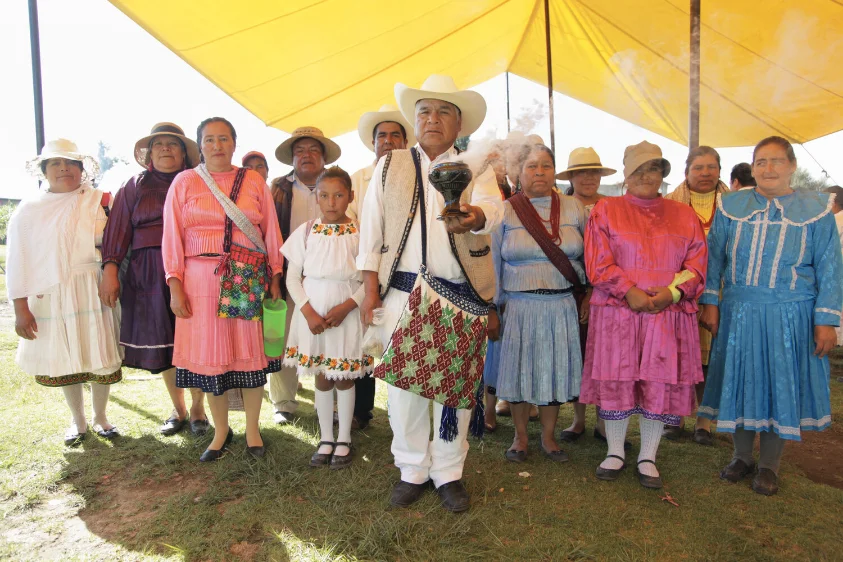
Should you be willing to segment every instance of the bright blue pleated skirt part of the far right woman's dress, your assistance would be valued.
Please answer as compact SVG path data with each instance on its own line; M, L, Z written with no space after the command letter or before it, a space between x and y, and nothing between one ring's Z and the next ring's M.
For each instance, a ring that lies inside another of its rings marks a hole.
M699 414L717 430L801 432L831 424L828 357L814 355L814 301L758 303L724 296Z

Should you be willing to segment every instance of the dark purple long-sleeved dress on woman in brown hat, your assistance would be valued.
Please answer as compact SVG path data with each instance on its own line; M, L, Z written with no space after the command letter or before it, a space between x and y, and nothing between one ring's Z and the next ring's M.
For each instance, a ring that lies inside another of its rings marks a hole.
M129 179L114 198L105 227L103 263L122 264L120 345L123 365L159 373L173 366L176 318L161 258L164 201L177 174L146 171Z

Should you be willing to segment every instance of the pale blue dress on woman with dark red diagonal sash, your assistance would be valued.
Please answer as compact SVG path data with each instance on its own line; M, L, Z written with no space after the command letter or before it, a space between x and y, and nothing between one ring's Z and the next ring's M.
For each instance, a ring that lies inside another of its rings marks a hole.
M587 215L574 197L559 198L559 247L585 283L582 256ZM551 197L530 202L542 219L549 220ZM501 338L487 353L486 384L496 388L499 399L509 402L542 406L576 398L582 353L571 283L550 263L509 202L504 203L503 223L492 234L492 259L495 303L504 313Z

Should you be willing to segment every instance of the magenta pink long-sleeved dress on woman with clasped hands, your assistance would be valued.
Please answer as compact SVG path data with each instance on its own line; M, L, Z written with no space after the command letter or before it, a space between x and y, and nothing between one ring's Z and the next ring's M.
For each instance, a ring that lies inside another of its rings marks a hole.
M690 415L702 382L697 299L705 287L705 234L689 205L656 199L601 199L586 226L585 266L594 286L580 401L603 419L640 413L671 423ZM632 287L665 287L696 274L662 312L634 312Z

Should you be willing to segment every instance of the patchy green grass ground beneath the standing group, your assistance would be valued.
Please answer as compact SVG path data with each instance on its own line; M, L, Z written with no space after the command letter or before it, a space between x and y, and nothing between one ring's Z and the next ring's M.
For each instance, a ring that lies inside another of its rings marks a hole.
M243 414L234 413L234 452L209 466L197 462L208 438L158 435L169 400L163 383L142 372L127 372L128 380L113 388L109 417L124 436L114 444L89 437L79 449L66 449L62 393L21 373L15 346L12 334L0 334L6 422L0 425L0 558L44 557L45 543L67 540L78 511L98 546L70 543L65 559L840 559L843 490L815 484L792 466L783 468L781 491L772 498L753 493L748 483L723 483L717 474L731 453L725 437L710 448L662 444L659 468L677 508L660 499L663 493L642 489L632 470L618 482L597 481L605 447L589 436L567 448L571 462L554 465L539 454L538 426L531 424L528 461L508 464L503 452L512 430L501 420L496 434L471 441L468 513L444 512L433 493L410 510L390 510L398 472L383 385L374 423L354 435L350 470L307 467L318 441L312 385L301 393L296 426L273 425L264 404L267 458L245 454ZM832 386L839 414L843 385ZM562 410L560 428L570 420L570 407ZM630 438L637 450L637 423ZM64 516L45 512L59 500L68 506ZM25 525L45 538L7 540Z

